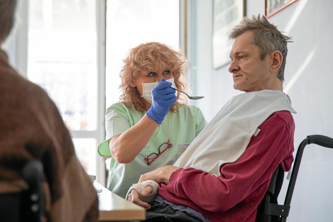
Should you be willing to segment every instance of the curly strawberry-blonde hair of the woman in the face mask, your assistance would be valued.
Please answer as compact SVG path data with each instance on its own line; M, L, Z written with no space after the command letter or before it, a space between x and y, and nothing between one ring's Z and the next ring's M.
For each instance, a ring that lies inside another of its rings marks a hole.
M135 109L145 111L138 88L130 86L130 83L139 75L144 75L143 73L168 70L173 75L177 89L184 91L187 87L185 56L162 43L149 42L140 44L128 52L123 62L124 66L120 71L121 84L119 86L122 95L119 98L119 102L124 103L127 107L134 104ZM178 91L176 97L177 102L170 106L170 111L173 112L176 112L175 107L179 108L187 102L186 98Z

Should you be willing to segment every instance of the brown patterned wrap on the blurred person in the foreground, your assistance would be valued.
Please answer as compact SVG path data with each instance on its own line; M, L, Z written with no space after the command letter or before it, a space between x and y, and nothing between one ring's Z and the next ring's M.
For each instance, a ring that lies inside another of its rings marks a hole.
M96 191L57 107L43 89L17 74L0 50L0 193L26 188L19 173L32 158L44 166L45 220L98 220Z

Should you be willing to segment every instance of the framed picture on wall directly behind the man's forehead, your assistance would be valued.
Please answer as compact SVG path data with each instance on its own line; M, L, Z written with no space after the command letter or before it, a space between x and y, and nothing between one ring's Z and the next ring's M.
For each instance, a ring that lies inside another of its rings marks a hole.
M230 62L230 30L245 16L245 0L213 0L213 68Z

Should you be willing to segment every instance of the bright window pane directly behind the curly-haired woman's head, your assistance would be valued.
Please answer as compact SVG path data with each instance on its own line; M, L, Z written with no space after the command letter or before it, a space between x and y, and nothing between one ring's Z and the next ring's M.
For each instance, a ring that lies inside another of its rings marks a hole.
M106 106L118 102L119 72L128 50L161 42L179 50L178 0L108 0Z

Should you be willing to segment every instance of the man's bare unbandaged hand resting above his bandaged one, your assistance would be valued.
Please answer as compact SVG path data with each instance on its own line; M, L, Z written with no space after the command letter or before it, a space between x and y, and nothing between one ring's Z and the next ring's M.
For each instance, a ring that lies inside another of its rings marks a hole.
M157 168L156 170L142 174L139 182L151 179L151 180L155 180L158 183L169 183L171 174L174 171L176 171L177 169L179 169L179 167L171 166L171 165ZM144 192L144 191L142 191L142 192Z

